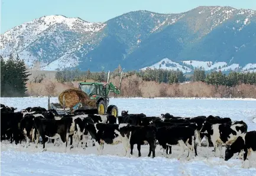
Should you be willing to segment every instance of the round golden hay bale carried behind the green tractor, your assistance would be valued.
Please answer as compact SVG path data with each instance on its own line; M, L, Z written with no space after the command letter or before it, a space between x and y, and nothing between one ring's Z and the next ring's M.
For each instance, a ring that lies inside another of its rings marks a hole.
M64 97L64 98L63 98ZM64 104L65 100L65 104ZM82 90L77 88L66 89L59 95L59 102L61 106L72 108L77 103L81 102L83 105L96 108L96 100L90 99Z

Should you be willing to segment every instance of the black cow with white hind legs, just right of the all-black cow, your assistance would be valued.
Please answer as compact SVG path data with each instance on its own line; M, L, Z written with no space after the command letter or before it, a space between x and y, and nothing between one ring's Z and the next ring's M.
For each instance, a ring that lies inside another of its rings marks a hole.
M157 128L157 140L158 143L166 148L167 145L179 145L181 147L180 157L187 146L188 155L187 159L190 159L190 154L195 150L195 156L197 156L196 144L195 144L195 128L189 126L164 126Z

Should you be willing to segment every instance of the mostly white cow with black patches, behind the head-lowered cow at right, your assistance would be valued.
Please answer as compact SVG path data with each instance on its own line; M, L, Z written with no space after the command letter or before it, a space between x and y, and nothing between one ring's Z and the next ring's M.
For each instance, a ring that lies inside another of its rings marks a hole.
M247 124L242 120L232 123L216 124L206 121L201 132L208 132L210 141L213 143L214 156L216 157L216 149L218 147L220 157L223 158L222 145L231 145L239 135L247 132L247 128Z

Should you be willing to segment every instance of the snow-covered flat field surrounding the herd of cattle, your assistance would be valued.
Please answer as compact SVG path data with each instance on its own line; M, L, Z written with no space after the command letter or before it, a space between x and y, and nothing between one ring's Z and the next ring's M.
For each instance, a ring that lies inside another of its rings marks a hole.
M57 102L57 98L51 98ZM46 97L1 98L1 103L18 107L47 107ZM176 116L215 115L244 120L248 131L256 130L256 101L230 99L111 99L110 104L117 105L129 113L145 113L147 116L160 116L170 113ZM229 161L213 157L213 148L198 147L198 157L186 161L187 150L178 160L179 148L174 146L167 158L157 146L156 157L148 158L148 145L141 148L142 157L138 158L137 146L131 158L122 157L122 144L105 145L103 155L98 156L92 144L85 150L73 148L64 153L62 146L46 144L23 148L21 145L1 143L1 175L256 175L256 156L253 154L252 168L241 168L241 160L235 154ZM225 147L223 147L225 152ZM208 157L207 157L208 156Z

